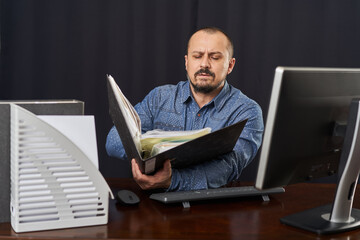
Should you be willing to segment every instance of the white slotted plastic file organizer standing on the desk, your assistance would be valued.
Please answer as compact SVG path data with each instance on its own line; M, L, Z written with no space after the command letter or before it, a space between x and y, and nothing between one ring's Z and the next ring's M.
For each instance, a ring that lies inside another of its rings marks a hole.
M105 179L72 141L11 104L11 225L15 232L106 224L109 194Z

